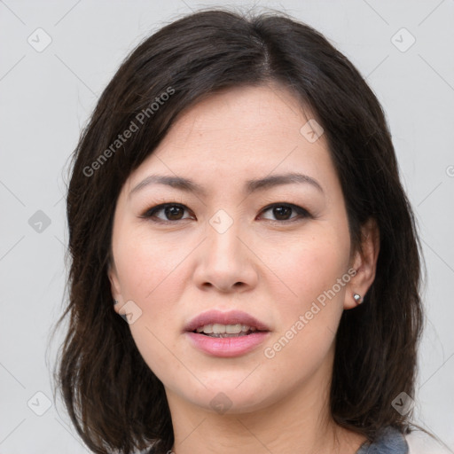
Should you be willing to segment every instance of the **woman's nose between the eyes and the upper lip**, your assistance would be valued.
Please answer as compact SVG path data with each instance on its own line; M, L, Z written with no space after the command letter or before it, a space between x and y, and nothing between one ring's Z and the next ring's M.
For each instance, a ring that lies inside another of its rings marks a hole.
M223 231L207 225L207 238L198 248L194 279L202 289L213 287L219 292L244 292L257 281L257 257L247 243L247 234L233 222Z

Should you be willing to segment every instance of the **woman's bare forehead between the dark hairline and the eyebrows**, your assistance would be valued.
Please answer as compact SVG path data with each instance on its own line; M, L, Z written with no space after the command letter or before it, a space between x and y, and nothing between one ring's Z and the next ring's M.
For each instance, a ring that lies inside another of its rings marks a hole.
M201 184L242 184L295 171L333 178L325 137L308 137L308 121L313 121L309 111L277 85L223 90L177 118L129 176L129 190L150 173L189 176Z

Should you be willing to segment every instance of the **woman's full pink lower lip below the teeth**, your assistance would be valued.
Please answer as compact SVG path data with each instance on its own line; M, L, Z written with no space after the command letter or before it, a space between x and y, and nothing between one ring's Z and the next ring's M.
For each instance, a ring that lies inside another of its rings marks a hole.
M212 356L229 358L250 352L270 335L269 331L247 334L239 337L209 337L199 333L186 332L192 345Z

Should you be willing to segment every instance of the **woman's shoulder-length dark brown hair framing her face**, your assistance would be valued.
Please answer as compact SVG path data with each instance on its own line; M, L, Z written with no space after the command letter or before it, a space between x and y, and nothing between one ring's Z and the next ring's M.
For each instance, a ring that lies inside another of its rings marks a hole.
M370 217L380 228L376 278L364 303L340 320L333 419L370 440L381 427L408 430L409 415L391 403L414 392L420 245L380 103L313 28L283 13L211 10L169 23L130 53L74 151L69 292L59 323L69 320L56 375L74 426L94 452L129 454L151 442L166 452L174 442L164 387L113 309L107 270L122 184L185 109L219 90L269 82L294 93L325 129L352 245L360 246L360 228ZM137 130L115 142L132 122Z

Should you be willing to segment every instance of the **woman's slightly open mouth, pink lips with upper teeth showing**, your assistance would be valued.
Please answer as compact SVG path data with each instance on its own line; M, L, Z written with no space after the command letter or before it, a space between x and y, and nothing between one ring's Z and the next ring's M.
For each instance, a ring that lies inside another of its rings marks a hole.
M210 310L184 328L192 346L210 356L241 356L270 336L270 328L242 311Z

